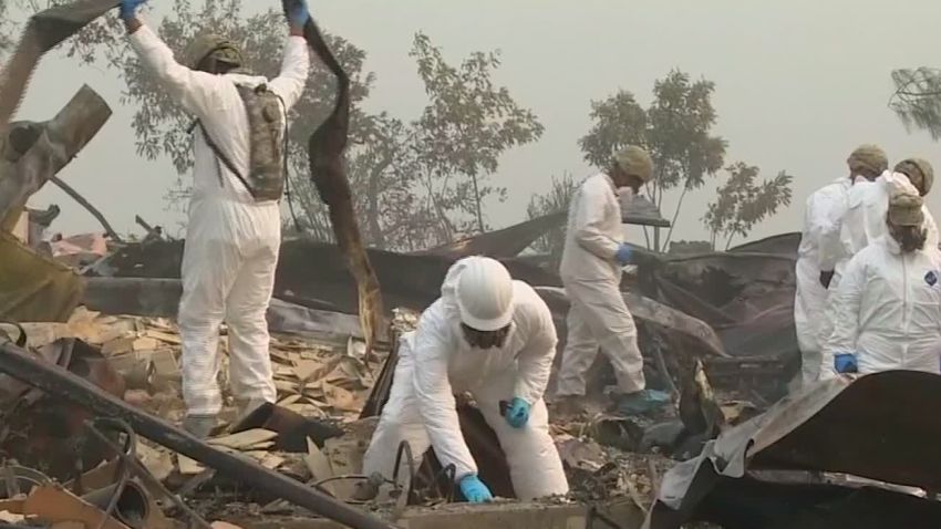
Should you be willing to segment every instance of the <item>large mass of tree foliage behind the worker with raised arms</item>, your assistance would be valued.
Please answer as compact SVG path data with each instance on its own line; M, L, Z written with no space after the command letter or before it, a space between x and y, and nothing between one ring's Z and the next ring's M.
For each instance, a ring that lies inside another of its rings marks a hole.
M0 14L8 2L13 2L25 17L69 1L0 0ZM283 17L276 9L247 15L245 3L174 0L170 13L156 30L177 56L203 31L225 34L242 48L248 70L273 76L285 42ZM363 71L365 53L340 37L327 39L352 80L348 176L366 242L380 248L417 250L486 230L487 201L506 197L504 187L490 183L499 157L542 134L536 116L518 105L506 87L492 81L500 65L499 53L472 53L453 66L426 35L417 34L411 55L428 104L418 117L403 121L384 112L370 114L363 110L375 82L372 73ZM0 40L0 46L3 43ZM193 116L141 68L127 49L116 17L96 22L65 46L70 56L85 63L104 63L126 82L122 102L135 108L132 125L138 154L146 159L165 157L173 162L178 179L167 193L167 200L179 207L190 188ZM335 87L333 76L319 61L312 61L312 68L303 97L290 116L289 204L307 236L330 240L327 209L310 180L307 141L332 110Z

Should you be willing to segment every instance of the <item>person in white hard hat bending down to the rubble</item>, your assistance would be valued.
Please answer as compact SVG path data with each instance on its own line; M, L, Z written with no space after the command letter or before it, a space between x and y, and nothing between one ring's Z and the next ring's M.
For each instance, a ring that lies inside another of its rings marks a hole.
M393 476L397 447L405 440L416 465L432 447L442 466L454 465L468 501L489 501L455 408L455 394L469 392L506 453L517 497L567 494L542 401L557 343L549 308L531 287L484 257L457 261L441 291L417 329L402 336L389 402L363 473ZM500 401L509 403L505 415Z

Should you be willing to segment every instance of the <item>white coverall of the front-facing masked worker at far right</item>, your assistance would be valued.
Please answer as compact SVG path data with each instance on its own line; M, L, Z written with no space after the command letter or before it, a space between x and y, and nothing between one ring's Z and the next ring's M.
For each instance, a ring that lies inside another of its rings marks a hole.
M881 237L847 264L834 298L836 325L824 348L821 378L836 376L834 356L857 355L860 374L888 370L939 372L941 271L935 252L902 253Z

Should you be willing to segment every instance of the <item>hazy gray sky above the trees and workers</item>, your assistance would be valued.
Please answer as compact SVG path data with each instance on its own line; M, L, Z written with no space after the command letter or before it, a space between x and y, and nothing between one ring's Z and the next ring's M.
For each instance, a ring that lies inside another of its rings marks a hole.
M172 2L152 3L158 8L149 17L156 24ZM251 0L257 8L269 3L279 4ZM544 190L552 175L591 173L577 145L590 126L591 100L625 89L647 105L653 81L672 68L716 83L717 132L730 142L728 162L757 165L766 176L780 169L795 175L794 204L753 238L798 230L807 195L844 176L845 159L860 143L880 144L892 162L917 155L941 164L930 137L909 134L887 106L892 69L941 65L937 0L312 0L311 8L327 30L368 53L365 69L378 75L369 108L404 120L425 103L407 56L416 31L453 62L472 51L503 51L497 81L536 112L546 133L538 144L504 157L494 179L508 187L509 198L489 205L496 226L523 220L529 196ZM49 117L83 82L115 114L64 178L120 231L135 228L135 214L175 226L184 217L165 210L163 195L176 175L166 160L135 155L133 108L121 105L124 85L114 72L51 56L19 116ZM679 238L706 237L700 218L711 195L703 189L687 197ZM99 229L56 189L41 191L32 205L50 201L63 209L55 230ZM938 211L941 193L929 205ZM672 212L672 204L664 209ZM639 235L631 232L632 239Z

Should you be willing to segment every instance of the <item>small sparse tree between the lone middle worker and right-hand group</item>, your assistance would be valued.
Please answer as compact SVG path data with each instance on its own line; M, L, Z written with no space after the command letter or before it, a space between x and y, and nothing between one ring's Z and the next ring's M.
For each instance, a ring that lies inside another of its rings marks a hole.
M716 239L723 237L727 250L735 236L747 237L755 225L773 216L778 208L790 205L794 178L780 172L774 178L758 181L761 169L742 162L725 170L728 177L716 190L703 222L712 234L713 248Z

